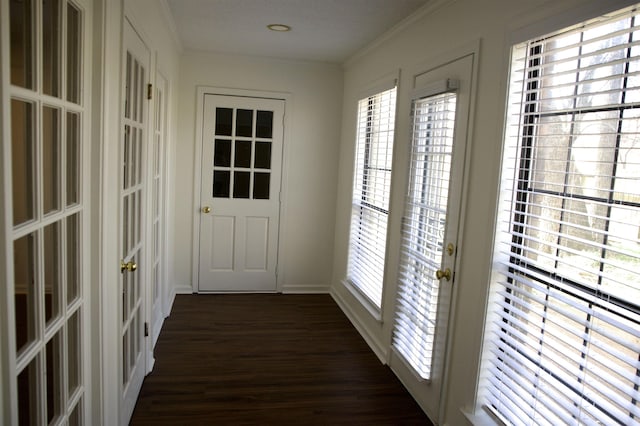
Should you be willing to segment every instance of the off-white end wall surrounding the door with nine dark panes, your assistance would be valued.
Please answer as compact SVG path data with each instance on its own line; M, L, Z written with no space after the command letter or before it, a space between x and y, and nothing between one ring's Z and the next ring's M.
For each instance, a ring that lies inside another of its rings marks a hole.
M341 127L342 69L338 65L190 52L181 58L175 161L175 283L191 292L196 88L280 92L285 129L279 290L328 291Z

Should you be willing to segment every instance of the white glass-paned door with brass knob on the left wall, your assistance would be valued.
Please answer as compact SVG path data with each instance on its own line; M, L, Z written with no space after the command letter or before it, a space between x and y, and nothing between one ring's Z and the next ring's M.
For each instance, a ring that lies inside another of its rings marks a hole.
M147 369L146 157L147 84L151 54L129 21L124 24L123 115L120 145L121 424L128 424Z

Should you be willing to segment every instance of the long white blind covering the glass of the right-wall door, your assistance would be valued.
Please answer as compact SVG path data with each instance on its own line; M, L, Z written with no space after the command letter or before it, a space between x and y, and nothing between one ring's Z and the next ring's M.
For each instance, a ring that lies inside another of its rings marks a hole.
M401 248L393 345L422 379L431 378L456 94L414 100L410 181Z

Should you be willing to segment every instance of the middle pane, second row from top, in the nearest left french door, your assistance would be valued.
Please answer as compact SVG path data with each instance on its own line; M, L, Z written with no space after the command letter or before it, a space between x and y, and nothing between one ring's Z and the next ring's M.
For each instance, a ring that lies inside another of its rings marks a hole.
M42 108L42 204L44 214L60 209L60 110Z

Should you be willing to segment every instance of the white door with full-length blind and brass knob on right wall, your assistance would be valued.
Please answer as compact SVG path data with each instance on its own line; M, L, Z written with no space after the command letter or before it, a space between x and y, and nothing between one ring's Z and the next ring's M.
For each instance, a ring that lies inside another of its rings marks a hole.
M390 365L438 423L459 253L474 55L416 77Z

